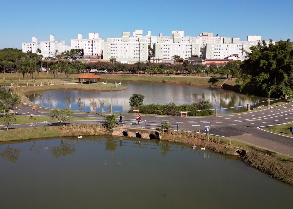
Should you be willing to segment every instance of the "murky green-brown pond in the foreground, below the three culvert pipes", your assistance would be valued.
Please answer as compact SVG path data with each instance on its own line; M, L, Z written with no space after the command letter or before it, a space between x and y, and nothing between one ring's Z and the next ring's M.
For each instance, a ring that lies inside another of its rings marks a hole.
M291 208L293 188L239 160L112 136L0 143L1 208Z

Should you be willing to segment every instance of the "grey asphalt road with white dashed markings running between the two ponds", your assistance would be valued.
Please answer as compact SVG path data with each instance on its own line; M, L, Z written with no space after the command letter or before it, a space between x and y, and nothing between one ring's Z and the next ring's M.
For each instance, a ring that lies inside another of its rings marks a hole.
M36 107L32 110L30 105L22 105L16 108L18 115L38 115L50 116L48 108ZM103 119L109 114L96 113L76 113L76 117L86 117L88 121L67 121L68 123L103 123ZM123 115L123 122L126 126L138 127L135 119L137 115ZM116 115L119 120L119 115ZM253 145L257 145L269 150L273 150L293 157L293 137L270 133L260 129L263 126L293 123L293 103L287 103L271 109L261 109L244 114L218 116L218 117L172 117L172 116L144 116L142 115L141 127L160 127L162 121L171 124L172 129L184 131L205 131L205 126L209 126L209 134L236 139ZM44 126L44 123L38 126ZM48 124L47 124L48 125ZM11 125L9 128L24 128L29 124ZM3 125L0 129L4 129ZM205 133L207 133L205 131ZM293 135L292 135L293 136Z

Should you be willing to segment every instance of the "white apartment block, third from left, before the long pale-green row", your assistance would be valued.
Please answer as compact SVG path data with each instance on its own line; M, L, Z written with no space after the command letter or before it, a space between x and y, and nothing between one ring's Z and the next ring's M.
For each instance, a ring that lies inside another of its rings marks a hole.
M77 39L70 39L71 49L84 49L84 56L100 58L103 54L103 38L98 33L88 33L88 39L82 39L78 34Z

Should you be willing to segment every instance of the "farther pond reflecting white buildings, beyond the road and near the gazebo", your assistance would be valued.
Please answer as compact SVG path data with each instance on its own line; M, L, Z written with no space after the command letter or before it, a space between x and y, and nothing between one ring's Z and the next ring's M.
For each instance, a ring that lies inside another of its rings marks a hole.
M109 80L107 82L110 82ZM115 81L112 81L115 83ZM85 84L86 85L86 84ZM179 85L172 83L158 83L158 82L143 82L143 81L122 81L122 85L126 86L126 90L115 91L113 90L113 112L127 113L130 109L129 99L133 94L144 95L144 104L168 104L170 102L175 105L192 104L201 100L210 100L215 103L213 95L219 100L218 113L235 113L247 111L247 95L240 94L231 90L224 90L221 88L208 88L192 85ZM115 88L113 88L115 89ZM79 110L77 106L77 98L81 98L84 101L84 108L87 112L90 112L91 106L89 100L98 101L98 99L105 101L104 111L110 112L107 106L111 103L110 91L89 91L89 90L51 90L46 91L46 95L51 95L52 103L51 107L68 109L68 104L64 102L65 97L72 97L71 109ZM30 92L27 95L29 100L41 104L40 96L38 92ZM252 104L266 101L264 97L254 97ZM272 100L272 99L271 99ZM257 105L251 105L251 109L260 104L267 105L267 102L258 103ZM43 99L43 106L49 107L49 103L46 99ZM243 107L241 107L243 106ZM214 105L215 107L215 105ZM233 108L232 108L233 107ZM227 109L226 109L227 108ZM102 112L102 107L98 102L97 112Z

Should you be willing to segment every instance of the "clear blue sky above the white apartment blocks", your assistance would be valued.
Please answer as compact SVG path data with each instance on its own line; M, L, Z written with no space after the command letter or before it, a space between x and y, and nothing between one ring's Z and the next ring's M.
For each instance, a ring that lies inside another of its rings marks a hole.
M76 1L0 0L0 49L21 49L22 42L64 40L89 32L99 37L121 37L122 31L143 30L143 35L171 36L183 30L185 36L213 32L246 40L261 35L262 40L293 41L293 1Z

